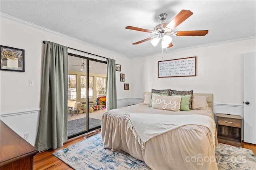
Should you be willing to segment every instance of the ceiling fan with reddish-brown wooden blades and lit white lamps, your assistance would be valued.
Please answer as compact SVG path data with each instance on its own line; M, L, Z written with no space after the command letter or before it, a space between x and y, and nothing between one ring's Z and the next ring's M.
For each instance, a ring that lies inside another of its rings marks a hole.
M138 41L133 43L134 45L143 43L145 41L151 40L152 45L156 47L159 41L162 41L162 48L169 48L172 47L172 36L204 36L208 33L208 30L196 30L196 31L173 31L175 27L180 25L183 21L185 21L188 17L192 16L193 12L190 10L181 10L179 14L177 14L170 23L164 23L164 20L167 17L167 14L163 13L160 14L158 17L162 20L162 23L156 25L153 30L143 29L138 27L127 26L126 29L132 29L135 31L143 31L147 33L154 33L156 36L149 37L147 39Z

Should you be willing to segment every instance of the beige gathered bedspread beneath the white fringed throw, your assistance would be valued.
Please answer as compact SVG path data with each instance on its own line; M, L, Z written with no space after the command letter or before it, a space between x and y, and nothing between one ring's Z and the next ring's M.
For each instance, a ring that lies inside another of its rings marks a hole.
M126 121L127 114L145 115L202 115L214 120L208 110L166 111L136 104L107 111L102 116L102 141L107 149L123 150L134 158L143 160L153 170L217 170L215 146L217 133L202 125L184 125L146 141L143 149ZM142 120L141 122L145 122ZM215 126L215 122L213 121ZM150 125L148 125L150 126ZM211 125L210 125L211 126ZM214 127L212 127L214 128ZM149 128L150 129L150 128ZM142 135L143 136L143 135Z

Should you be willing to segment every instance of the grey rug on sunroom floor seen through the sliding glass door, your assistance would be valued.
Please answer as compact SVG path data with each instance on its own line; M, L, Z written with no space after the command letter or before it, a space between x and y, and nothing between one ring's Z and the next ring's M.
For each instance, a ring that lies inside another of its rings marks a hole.
M89 117L89 129L98 127L101 125L100 119L94 119ZM86 118L80 118L68 121L68 137L79 134L86 130Z

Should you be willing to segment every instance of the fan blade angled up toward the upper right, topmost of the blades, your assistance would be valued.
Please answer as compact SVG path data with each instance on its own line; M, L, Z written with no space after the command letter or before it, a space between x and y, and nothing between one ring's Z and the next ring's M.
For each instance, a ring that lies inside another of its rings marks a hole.
M181 10L180 13L177 14L173 18L173 20L170 21L170 23L168 23L168 25L166 25L166 27L170 29L174 29L175 27L180 25L180 23L188 19L188 17L192 16L192 14L193 12L191 12L190 10Z

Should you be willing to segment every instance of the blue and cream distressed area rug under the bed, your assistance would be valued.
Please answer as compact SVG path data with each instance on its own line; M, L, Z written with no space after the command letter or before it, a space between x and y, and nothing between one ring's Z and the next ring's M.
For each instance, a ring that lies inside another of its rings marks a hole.
M104 149L101 133L53 153L74 170L150 170L145 162L122 151ZM216 147L219 170L255 170L252 150L219 143Z

